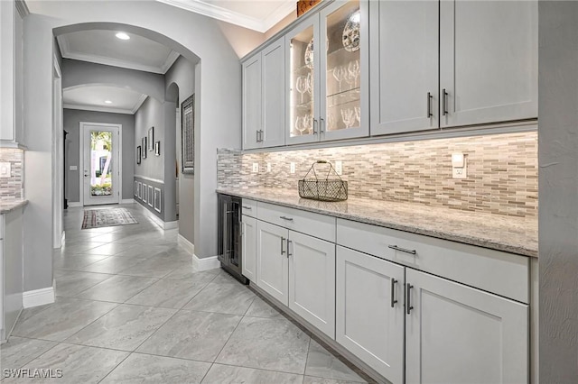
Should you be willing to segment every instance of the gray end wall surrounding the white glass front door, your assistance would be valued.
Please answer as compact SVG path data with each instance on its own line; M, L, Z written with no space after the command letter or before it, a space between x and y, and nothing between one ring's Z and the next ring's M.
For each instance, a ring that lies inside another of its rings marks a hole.
M78 202L81 169L70 170L71 165L79 166L80 122L121 124L123 157L123 199L133 198L133 176L135 174L135 116L133 114L109 114L106 112L64 109L64 130L66 137L66 190L70 202Z

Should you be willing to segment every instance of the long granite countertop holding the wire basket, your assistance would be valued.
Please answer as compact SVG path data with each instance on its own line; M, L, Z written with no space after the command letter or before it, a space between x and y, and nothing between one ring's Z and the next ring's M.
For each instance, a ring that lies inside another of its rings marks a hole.
M367 224L537 257L537 218L491 215L417 203L349 197L329 203L279 188L222 188L217 192L332 215Z

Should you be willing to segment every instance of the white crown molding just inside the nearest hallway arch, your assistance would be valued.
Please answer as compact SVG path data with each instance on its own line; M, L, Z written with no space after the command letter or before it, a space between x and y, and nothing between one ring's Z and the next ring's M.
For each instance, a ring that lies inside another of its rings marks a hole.
M70 50L70 45L68 40L66 39L66 34L61 34L57 36L56 39L58 40L58 45L61 49L61 56L65 59L89 61L97 64L103 64L112 67L120 67L125 69L142 70L144 72L152 72L157 73L159 75L164 75L166 71L172 67L172 64L174 64L174 62L177 59L179 59L179 56L181 56L179 52L172 50L171 54L169 54L169 56L166 58L161 67L153 67L140 64L135 61L126 61L123 59L107 58L105 56L99 56L95 54L74 52Z

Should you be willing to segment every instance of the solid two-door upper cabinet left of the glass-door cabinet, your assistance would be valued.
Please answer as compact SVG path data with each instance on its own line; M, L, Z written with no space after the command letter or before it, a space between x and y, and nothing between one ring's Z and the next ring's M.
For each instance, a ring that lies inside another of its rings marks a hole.
M246 59L243 67L243 149L284 145L284 38Z

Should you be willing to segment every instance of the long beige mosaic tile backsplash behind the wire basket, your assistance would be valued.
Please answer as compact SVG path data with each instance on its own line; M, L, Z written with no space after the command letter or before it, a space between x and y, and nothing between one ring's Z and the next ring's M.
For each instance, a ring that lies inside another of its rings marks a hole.
M452 153L467 156L468 178L452 178ZM294 189L315 160L341 160L350 196L414 202L498 215L537 216L537 133L504 133L340 148L218 151L219 187ZM252 172L253 163L259 172ZM266 163L271 172L266 172ZM290 163L295 173L290 173Z

